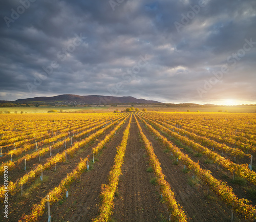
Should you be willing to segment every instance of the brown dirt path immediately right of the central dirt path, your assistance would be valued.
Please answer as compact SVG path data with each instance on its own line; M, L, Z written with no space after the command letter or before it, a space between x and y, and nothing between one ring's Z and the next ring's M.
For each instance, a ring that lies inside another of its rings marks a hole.
M205 195L206 186L191 187L188 184L187 175L182 172L183 165L174 165L166 153L164 147L151 135L140 122L143 133L151 141L155 154L159 158L161 168L166 176L166 181L172 187L177 202L183 207L190 221L230 221L230 210L217 199L209 199Z

